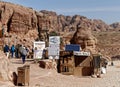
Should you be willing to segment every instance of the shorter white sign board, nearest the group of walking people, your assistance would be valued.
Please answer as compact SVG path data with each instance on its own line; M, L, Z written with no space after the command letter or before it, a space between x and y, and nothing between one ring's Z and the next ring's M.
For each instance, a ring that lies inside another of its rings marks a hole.
M34 59L42 58L44 48L45 48L45 42L43 41L34 42Z

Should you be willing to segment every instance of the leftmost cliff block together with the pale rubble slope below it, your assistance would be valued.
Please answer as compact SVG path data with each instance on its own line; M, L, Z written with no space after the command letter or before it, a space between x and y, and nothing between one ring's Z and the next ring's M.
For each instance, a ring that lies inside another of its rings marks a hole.
M4 29L5 43L31 46L38 38L37 16L33 9L0 2L0 30Z

